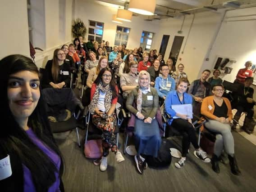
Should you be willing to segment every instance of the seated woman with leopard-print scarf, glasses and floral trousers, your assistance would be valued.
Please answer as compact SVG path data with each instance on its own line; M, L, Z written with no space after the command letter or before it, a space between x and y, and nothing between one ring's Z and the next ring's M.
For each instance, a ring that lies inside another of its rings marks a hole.
M94 84L91 86L91 103L89 105L92 114L92 122L98 129L102 130L102 148L100 170L105 171L108 166L107 156L109 149L115 153L118 163L124 158L116 146L114 129L116 125L116 114L114 112L118 98L118 88L115 85L113 72L110 68L101 69Z

